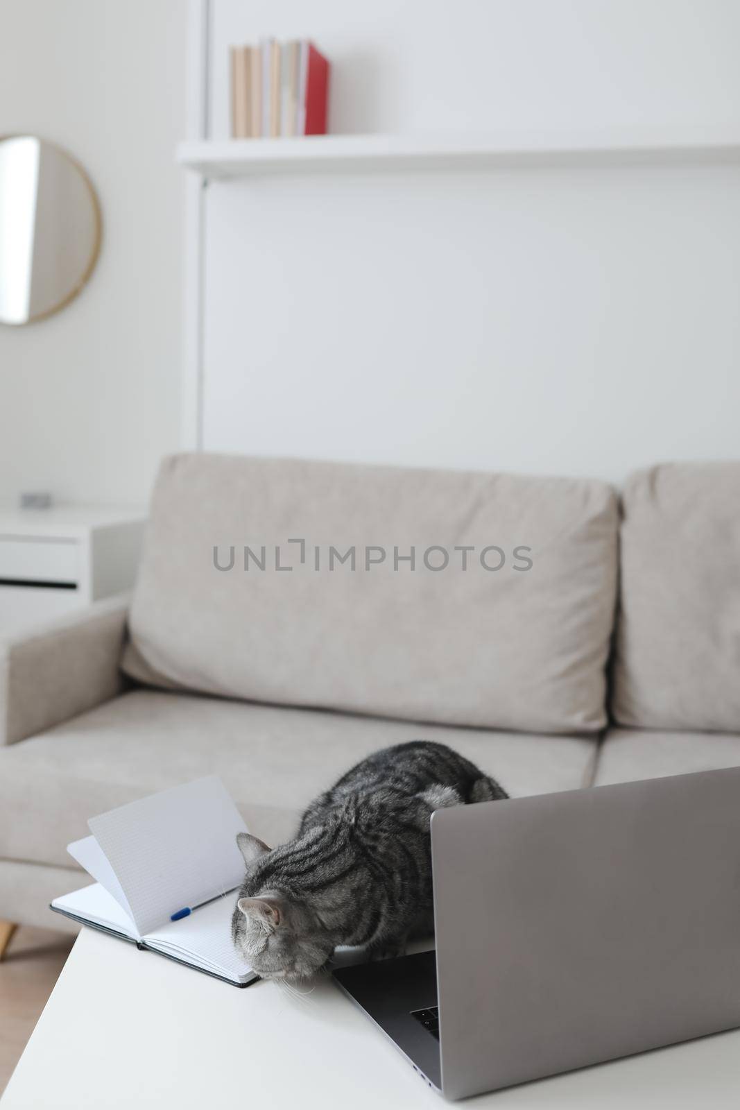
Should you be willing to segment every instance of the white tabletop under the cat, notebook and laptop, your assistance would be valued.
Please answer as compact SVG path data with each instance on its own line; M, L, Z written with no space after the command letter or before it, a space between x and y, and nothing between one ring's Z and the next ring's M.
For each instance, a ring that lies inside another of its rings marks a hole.
M83 929L2 1110L440 1110L332 982L245 990ZM494 1110L729 1110L740 1031L467 1100Z

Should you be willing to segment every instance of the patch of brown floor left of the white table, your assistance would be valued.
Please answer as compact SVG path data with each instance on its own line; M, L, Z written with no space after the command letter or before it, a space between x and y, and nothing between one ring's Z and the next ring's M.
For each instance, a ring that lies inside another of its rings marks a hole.
M0 963L0 1093L33 1032L74 937L21 927Z

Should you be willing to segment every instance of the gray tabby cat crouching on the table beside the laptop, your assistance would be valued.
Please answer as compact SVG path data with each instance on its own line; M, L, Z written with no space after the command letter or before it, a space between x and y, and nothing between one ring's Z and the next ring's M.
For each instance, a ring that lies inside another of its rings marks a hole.
M246 864L234 944L263 978L296 981L338 945L398 955L433 932L429 819L508 795L468 759L426 740L384 748L311 803L297 836L270 849L237 836Z

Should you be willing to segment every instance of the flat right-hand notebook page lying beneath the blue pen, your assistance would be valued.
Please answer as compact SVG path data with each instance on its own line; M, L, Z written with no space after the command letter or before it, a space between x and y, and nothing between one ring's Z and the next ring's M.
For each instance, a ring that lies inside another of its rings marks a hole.
M193 958L203 967L230 979L244 981L254 972L234 948L231 939L231 918L236 892L219 898L209 906L193 910L181 921L169 921L161 929L144 938L150 948Z

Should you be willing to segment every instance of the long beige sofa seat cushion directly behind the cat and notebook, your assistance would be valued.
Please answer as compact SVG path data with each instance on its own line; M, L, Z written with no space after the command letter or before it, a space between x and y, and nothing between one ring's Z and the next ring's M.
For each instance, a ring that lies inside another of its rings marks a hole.
M0 857L72 865L89 817L153 790L220 775L253 831L295 831L307 803L368 753L418 738L449 744L511 794L584 785L596 740L513 736L136 690L0 748Z

